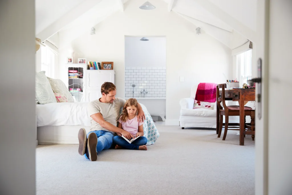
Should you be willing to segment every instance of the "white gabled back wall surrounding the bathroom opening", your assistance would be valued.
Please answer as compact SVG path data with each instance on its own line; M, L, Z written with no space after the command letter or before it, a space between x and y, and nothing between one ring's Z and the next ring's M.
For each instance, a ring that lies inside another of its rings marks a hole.
M99 23L96 34L89 31L59 49L59 78L66 83L64 63L74 49L77 57L88 61L113 61L117 96L124 97L125 35L166 36L166 117L168 124L178 125L179 100L190 97L193 84L225 82L232 76L231 49L208 34L195 34L194 25L173 12L160 0L151 1L156 9L145 11L139 6L145 0L127 1L124 12L117 12ZM66 37L66 36L63 36ZM61 42L68 40L60 40ZM179 82L185 76L185 82Z

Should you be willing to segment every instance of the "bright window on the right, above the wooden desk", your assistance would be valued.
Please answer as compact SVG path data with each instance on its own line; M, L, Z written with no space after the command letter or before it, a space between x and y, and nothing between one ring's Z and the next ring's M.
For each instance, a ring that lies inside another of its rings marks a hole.
M251 79L251 49L236 56L237 75L239 75L240 86Z

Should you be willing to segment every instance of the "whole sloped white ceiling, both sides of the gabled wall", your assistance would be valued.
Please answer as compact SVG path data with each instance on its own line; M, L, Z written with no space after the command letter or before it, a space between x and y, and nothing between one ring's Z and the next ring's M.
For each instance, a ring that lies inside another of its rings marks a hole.
M91 2L90 4L88 3L89 1ZM43 37L48 39L48 37L58 31L60 40L64 36L69 36L73 40L77 38L81 32L84 32L84 30L88 30L89 33L91 26L100 23L114 12L124 10L126 12L126 5L133 1L136 0L36 0L36 35L41 36L46 34L46 36ZM247 40L246 38L248 35L250 36L253 31L256 30L257 0L149 1L154 5L155 2L164 1L167 3L165 8L168 10L170 8L169 6L172 5L171 11L178 13L178 16L193 23L194 28L201 27L202 32L210 34L231 49L239 46L238 44L240 42ZM121 6L122 2L125 7ZM206 4L205 2L208 3ZM78 14L79 12L76 10L76 7L81 7L82 5L86 8L86 11L83 10L82 13L80 12L80 14ZM210 7L213 7L213 9L210 9ZM72 19L65 17L65 23L62 18L64 18L66 14L70 15L71 17L69 18ZM218 17L217 14L221 14L221 17ZM224 21L225 19L229 21ZM63 21L61 23L62 27L58 21ZM58 24L60 28L53 32L51 26L54 27L55 24ZM234 26L239 30L238 33L234 33ZM247 28L246 31L244 28ZM245 37L242 32L247 32L248 35Z

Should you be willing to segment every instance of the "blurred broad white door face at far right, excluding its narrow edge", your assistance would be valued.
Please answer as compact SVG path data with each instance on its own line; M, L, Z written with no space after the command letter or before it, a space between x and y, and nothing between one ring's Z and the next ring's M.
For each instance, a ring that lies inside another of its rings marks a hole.
M292 194L292 1L270 0L268 192Z

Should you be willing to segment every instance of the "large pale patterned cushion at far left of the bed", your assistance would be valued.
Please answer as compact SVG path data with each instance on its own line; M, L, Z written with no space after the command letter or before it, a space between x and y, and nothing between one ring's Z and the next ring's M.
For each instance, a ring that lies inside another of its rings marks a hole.
M45 71L36 73L36 99L39 104L55 103L56 98Z

